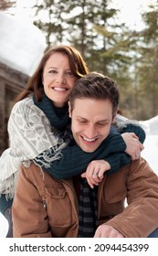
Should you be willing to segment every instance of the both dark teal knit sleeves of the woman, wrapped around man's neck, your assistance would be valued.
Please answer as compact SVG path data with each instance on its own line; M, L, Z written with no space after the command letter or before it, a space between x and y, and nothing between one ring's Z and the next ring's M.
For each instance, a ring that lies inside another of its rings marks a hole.
M121 133L133 132L140 138L141 143L145 139L145 133L141 126L135 123L121 124L121 129L111 131L110 135L104 140L100 147L93 153L85 153L79 146L75 145L62 150L62 157L56 162L50 163L49 166L43 166L43 169L51 176L57 178L69 178L83 173L92 160L104 159L111 165L108 175L117 172L121 166L130 164L132 157L124 153L126 145L121 137ZM37 164L40 161L35 159Z

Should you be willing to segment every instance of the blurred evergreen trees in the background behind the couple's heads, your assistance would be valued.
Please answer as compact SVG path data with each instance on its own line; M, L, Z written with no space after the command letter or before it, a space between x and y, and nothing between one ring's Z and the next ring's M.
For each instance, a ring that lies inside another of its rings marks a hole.
M158 104L158 12L154 6L144 13L143 31L130 31L115 22L118 10L110 4L111 0L37 0L35 25L44 31L48 46L72 45L90 70L117 80L127 117L148 119L156 114Z

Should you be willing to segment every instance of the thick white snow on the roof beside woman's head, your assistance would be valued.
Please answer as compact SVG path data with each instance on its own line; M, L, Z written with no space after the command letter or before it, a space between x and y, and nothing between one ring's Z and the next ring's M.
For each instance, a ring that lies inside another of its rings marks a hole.
M32 23L0 12L0 61L30 76L47 47L46 38Z

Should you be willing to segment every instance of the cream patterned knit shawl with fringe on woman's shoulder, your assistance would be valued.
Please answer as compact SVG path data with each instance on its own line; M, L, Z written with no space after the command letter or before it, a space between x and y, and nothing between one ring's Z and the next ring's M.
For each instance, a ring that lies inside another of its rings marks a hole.
M8 133L10 148L0 157L0 194L14 197L20 165L30 165L30 160L42 152L45 164L57 160L67 144L59 138L56 129L52 130L46 114L35 105L32 97L15 104L8 121ZM54 151L52 156L50 148Z

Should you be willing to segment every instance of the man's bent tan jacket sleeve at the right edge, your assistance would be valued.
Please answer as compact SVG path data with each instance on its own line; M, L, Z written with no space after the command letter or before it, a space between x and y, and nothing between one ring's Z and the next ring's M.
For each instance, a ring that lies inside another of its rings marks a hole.
M158 227L158 176L140 158L129 166L126 186L127 207L107 224L126 238L146 238Z

